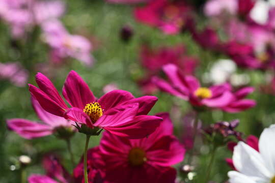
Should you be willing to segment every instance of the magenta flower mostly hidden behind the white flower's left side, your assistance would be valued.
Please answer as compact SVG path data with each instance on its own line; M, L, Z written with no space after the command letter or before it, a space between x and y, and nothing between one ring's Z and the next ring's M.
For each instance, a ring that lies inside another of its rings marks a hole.
M259 152L259 140L254 135L249 135L248 138L246 138L245 143ZM237 145L236 142L228 142L227 144L229 150L231 150L232 152L236 145ZM233 160L231 158L226 158L226 162L233 170L236 170L233 164Z

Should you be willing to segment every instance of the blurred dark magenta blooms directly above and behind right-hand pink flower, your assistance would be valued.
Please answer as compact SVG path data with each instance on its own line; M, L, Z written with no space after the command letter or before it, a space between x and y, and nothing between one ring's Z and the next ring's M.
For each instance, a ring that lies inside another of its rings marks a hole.
M183 45L158 49L151 49L146 45L142 47L141 64L147 72L146 77L139 80L143 93L151 94L157 90L151 79L160 74L162 66L169 63L178 66L184 74L194 74L199 61L196 57L186 55Z

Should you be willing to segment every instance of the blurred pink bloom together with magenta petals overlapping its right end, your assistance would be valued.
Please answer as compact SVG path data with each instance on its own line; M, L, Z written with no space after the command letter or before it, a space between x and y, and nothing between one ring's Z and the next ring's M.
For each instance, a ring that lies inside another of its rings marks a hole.
M155 77L154 83L164 92L188 100L197 107L219 108L228 112L239 112L255 106L255 101L243 99L253 92L252 87L244 87L233 93L228 83L213 85L209 88L201 87L194 76L184 75L181 70L173 65L163 66L169 81Z

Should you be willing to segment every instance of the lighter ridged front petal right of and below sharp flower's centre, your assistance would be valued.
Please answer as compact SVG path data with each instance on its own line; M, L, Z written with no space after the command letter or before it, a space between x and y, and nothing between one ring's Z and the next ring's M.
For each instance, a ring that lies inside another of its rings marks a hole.
M117 110L118 112L103 113L103 115L96 121L94 124L95 127L118 127L122 125L126 125L130 123L139 109L139 104L128 104L128 105L120 105L114 109L110 109L112 111Z

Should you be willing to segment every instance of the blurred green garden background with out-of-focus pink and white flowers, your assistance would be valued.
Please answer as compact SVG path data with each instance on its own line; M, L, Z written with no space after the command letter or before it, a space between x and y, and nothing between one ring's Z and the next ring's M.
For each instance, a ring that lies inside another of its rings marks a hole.
M69 71L74 70L96 97L116 88L135 97L155 95L159 100L150 114L168 111L175 135L182 142L183 117L192 108L151 83L152 76L165 77L162 65L178 64L204 86L226 81L235 89L254 86L255 92L249 95L257 102L254 108L239 113L208 110L200 118L203 127L240 119L237 130L243 137L259 137L275 119L274 2L243 1L244 5L231 0L1 0L0 182L19 182L22 169L26 176L43 173L41 161L49 153L58 155L72 172L63 140L53 135L26 140L7 128L6 119L10 118L39 121L28 90L28 83L36 85L37 72L49 77L59 92ZM152 2L166 3L154 9ZM93 137L90 147L99 140ZM85 136L76 133L72 151L77 161L84 144ZM19 161L22 155L32 160L26 168ZM198 169L189 176L196 177L206 171L209 161L209 147L203 138L195 147L195 155L200 155L193 160ZM231 156L226 145L218 149L211 176L214 181L227 180L230 167L225 158ZM185 176L181 173L179 177Z

